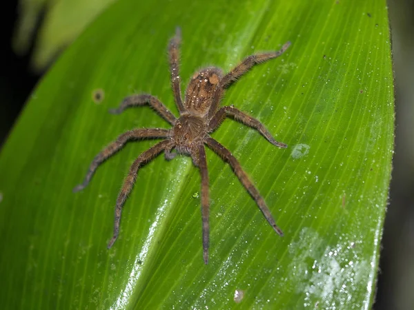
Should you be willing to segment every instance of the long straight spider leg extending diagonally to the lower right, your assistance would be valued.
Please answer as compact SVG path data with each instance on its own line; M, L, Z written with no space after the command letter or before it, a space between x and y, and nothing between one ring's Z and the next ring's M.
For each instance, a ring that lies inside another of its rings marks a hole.
M213 149L215 153L221 156L221 158L223 158L224 161L226 161L233 168L237 178L240 180L240 183L242 183L242 185L247 189L250 196L252 196L256 201L257 206L259 207L260 211L262 211L268 223L273 227L273 229L275 229L277 234L283 236L282 230L276 225L275 219L273 218L272 214L270 214L270 210L266 206L264 199L260 195L255 185L253 185L253 183L249 180L246 172L244 172L235 156L233 156L230 151L226 149L226 147L215 141L213 138L206 138L205 143L208 145L208 147L210 147L210 149Z

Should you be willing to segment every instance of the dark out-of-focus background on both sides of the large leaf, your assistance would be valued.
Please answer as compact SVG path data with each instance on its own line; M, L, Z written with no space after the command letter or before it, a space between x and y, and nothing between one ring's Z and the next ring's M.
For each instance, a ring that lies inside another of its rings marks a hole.
M390 0L388 6L393 37L396 134L374 308L409 310L414 309L414 0ZM1 1L0 150L40 78L29 67L31 49L23 56L12 50L17 17L17 1Z

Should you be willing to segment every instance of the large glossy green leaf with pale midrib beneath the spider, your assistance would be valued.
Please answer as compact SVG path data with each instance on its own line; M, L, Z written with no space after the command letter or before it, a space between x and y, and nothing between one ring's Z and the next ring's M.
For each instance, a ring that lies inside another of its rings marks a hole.
M111 6L34 90L0 154L2 308L369 309L393 154L387 14L385 1L373 0ZM293 43L222 101L258 118L288 149L232 120L213 134L285 236L208 149L208 265L190 158L159 156L139 171L110 250L121 183L155 141L129 143L72 193L119 134L168 128L149 107L108 114L124 96L154 94L177 114L166 59L177 25L183 81L206 65L230 70L244 56Z

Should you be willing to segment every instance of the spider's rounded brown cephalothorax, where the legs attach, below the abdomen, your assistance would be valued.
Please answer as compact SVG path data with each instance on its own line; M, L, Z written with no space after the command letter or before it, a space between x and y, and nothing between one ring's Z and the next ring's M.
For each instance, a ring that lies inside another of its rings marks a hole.
M184 114L175 123L172 139L181 153L190 153L195 145L203 143L206 136L206 122L193 114Z

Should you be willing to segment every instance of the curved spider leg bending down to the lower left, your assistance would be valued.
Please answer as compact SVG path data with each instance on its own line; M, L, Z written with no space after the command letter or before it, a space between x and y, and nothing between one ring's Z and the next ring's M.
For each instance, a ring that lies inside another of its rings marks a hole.
M153 145L149 149L147 149L144 153L139 155L137 160L134 161L132 166L130 167L130 172L128 173L128 176L126 177L124 181L124 185L121 188L121 192L118 195L117 198L117 205L115 207L115 223L114 223L114 235L110 239L110 242L108 243L108 249L114 245L114 242L118 238L119 234L119 223L121 222L121 213L122 213L122 206L125 203L126 198L128 197L128 194L131 192L132 186L135 183L135 178L137 177L138 169L142 167L145 163L148 163L151 161L155 156L159 155L166 147L170 145L169 140L164 140L156 145Z

